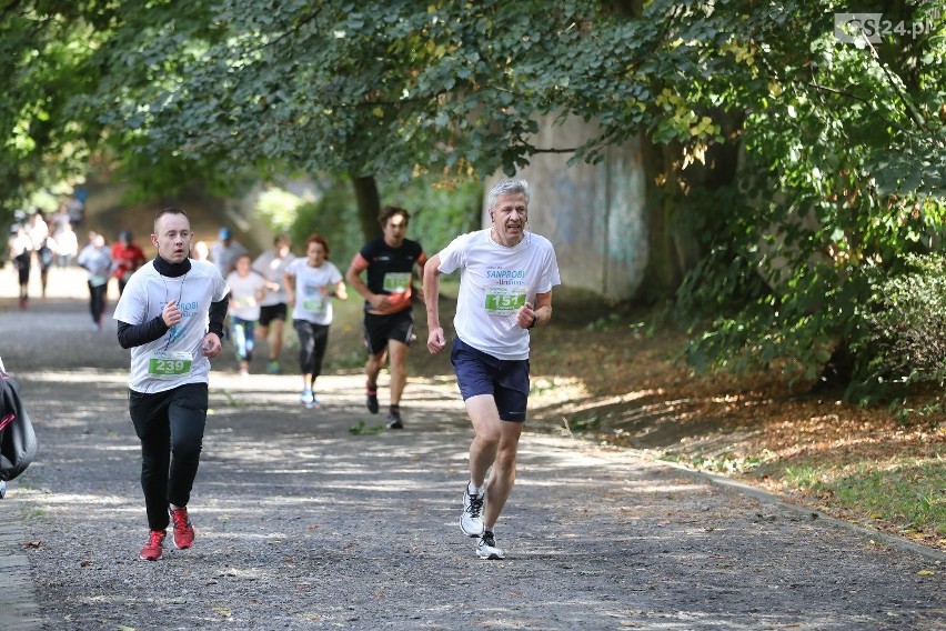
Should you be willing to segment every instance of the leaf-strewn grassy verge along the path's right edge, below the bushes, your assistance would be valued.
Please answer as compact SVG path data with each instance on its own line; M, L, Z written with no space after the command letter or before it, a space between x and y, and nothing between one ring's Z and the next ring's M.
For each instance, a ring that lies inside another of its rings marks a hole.
M556 293L532 347L531 428L647 450L827 514L946 549L946 404L861 408L777 373L694 374L644 312ZM581 298L581 297L578 297ZM544 377L544 381L541 379ZM568 389L563 388L565 379ZM563 397L563 393L566 395Z

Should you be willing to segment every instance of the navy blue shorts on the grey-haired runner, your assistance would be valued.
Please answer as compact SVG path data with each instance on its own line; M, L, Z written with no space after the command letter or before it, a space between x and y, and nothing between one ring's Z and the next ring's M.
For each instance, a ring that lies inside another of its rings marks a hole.
M496 359L454 338L450 363L456 372L460 394L491 394L504 421L524 422L529 403L529 360Z

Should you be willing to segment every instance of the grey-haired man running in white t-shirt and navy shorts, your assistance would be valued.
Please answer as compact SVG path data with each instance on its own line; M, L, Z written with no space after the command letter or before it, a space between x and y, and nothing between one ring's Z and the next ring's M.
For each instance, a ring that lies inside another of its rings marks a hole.
M552 288L561 284L552 243L525 230L529 200L525 180L499 182L487 197L492 227L457 237L424 266L431 353L446 345L440 274L460 270L450 361L475 432L460 528L479 538L481 559L505 557L495 524L515 481L529 402L530 329L552 319Z

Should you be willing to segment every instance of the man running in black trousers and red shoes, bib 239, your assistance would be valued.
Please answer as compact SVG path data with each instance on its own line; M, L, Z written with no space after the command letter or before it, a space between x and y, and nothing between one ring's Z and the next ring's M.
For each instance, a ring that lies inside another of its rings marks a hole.
M141 440L148 543L161 558L169 523L174 545L190 548L188 515L207 423L210 359L220 353L229 289L213 263L188 258L190 221L165 208L154 218L158 256L135 271L115 308L118 338L131 349L128 407Z

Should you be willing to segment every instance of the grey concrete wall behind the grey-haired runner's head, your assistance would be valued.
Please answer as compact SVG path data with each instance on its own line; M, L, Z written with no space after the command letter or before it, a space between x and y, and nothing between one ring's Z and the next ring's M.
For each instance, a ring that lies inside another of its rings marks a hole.
M581 144L593 124L570 119L553 124L549 117L533 142L540 148ZM647 262L644 217L644 167L636 139L610 148L597 166L568 167L568 156L541 153L516 179L529 181L532 192L529 229L555 246L564 286L583 288L614 299L636 293ZM486 181L486 191L502 173ZM485 198L483 227L490 226Z

